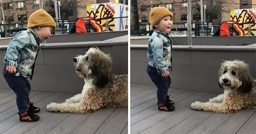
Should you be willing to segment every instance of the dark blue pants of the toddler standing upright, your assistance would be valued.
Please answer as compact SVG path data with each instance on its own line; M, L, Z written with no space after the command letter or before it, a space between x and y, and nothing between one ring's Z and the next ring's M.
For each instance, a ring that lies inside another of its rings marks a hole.
M158 74L157 69L151 65L148 65L147 73L157 87L157 104L163 104L166 100L168 89L170 88L171 78L162 77L161 74Z

